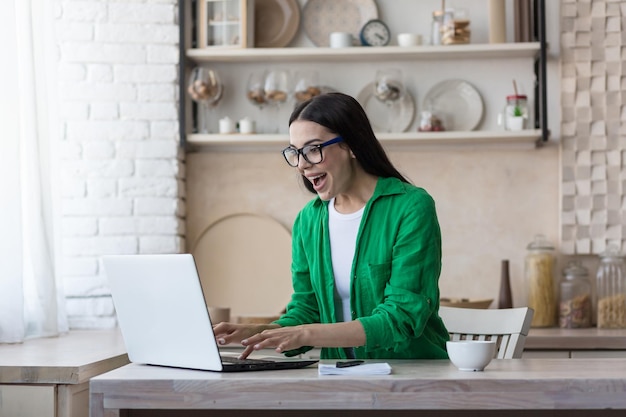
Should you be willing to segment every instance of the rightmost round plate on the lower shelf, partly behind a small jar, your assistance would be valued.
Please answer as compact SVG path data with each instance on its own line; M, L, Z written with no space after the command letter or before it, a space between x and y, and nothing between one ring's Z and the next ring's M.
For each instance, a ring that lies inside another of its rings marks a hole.
M444 120L446 130L474 130L483 118L483 100L473 85L463 80L446 80L424 96L423 110Z

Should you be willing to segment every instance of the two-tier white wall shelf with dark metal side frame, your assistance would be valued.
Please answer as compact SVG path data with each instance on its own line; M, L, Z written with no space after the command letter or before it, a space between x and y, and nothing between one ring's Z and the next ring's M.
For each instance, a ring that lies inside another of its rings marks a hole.
M181 2L185 3L185 2ZM385 144L402 147L428 145L440 147L455 146L499 146L499 147L536 147L545 143L549 136L546 112L546 42L545 42L545 5L543 0L535 0L538 11L535 16L536 42L498 43L498 44L463 44L463 45L421 45L414 47L383 46L383 47L285 47L285 48L188 48L192 45L193 34L184 27L191 28L191 7L180 6L181 16L181 74L186 74L190 64L241 64L275 62L366 62L381 63L389 61L463 61L484 60L491 64L494 60L528 59L534 62L535 72L535 129L521 132L504 131L472 131L472 132L404 132L379 134ZM187 47L187 48L186 48ZM184 78L184 77L183 77ZM186 97L184 82L180 85L181 97ZM191 108L190 100L181 101L181 145L192 149L229 149L244 151L246 149L269 149L280 147L288 142L283 134L259 135L201 135L190 133L193 128L191 116L187 109Z

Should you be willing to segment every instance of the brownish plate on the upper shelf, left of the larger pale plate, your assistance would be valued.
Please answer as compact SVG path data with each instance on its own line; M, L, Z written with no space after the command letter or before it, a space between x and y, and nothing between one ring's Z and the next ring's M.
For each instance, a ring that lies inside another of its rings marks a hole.
M289 45L299 25L300 6L297 0L255 0L255 48L282 48Z

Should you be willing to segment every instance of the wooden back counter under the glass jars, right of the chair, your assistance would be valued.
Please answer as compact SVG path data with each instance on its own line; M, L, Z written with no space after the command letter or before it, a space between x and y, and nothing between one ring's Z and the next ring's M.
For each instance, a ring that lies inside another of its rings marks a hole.
M524 350L626 351L626 329L531 328Z

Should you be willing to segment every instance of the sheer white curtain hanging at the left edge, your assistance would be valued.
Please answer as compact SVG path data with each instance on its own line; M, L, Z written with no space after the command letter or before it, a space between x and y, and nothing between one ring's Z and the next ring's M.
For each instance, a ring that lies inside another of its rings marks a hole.
M0 343L67 331L55 259L54 2L0 13Z

